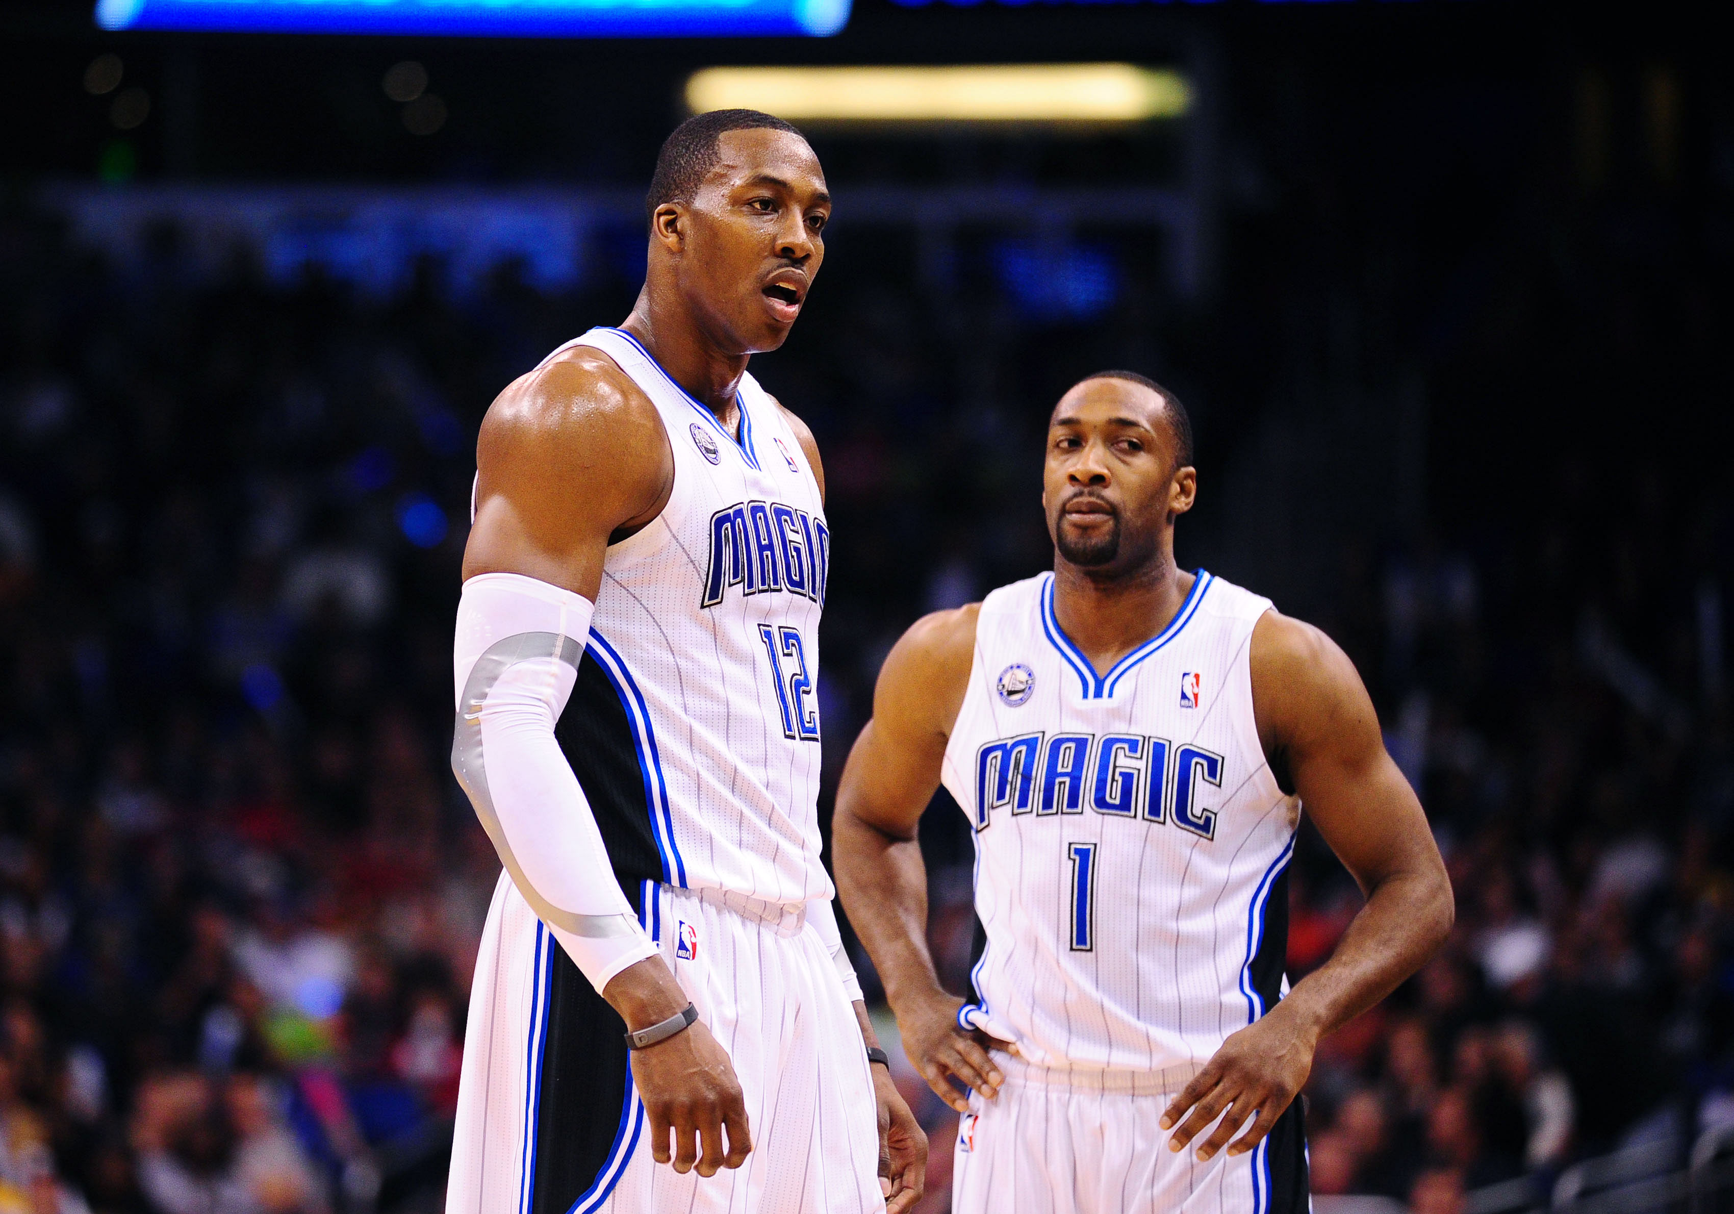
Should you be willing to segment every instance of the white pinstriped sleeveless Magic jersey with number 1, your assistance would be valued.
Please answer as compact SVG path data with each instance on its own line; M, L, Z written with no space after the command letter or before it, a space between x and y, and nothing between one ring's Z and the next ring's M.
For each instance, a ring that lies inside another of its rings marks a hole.
M1196 1065L1287 990L1300 803L1252 716L1269 607L1198 571L1172 623L1096 673L1054 578L981 604L943 779L975 826L980 1002L1035 1067Z

